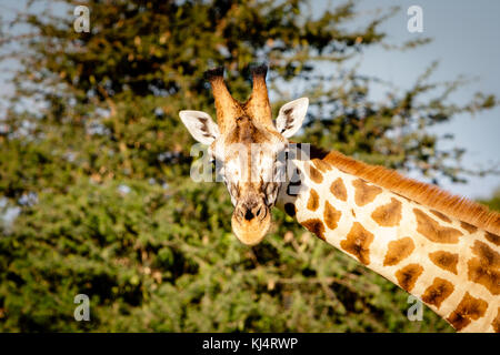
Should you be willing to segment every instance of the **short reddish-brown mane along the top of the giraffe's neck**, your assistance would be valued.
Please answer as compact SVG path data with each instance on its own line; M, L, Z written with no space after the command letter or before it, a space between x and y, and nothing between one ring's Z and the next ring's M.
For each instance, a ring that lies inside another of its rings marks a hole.
M311 146L311 159L319 158L339 170L362 178L409 200L434 209L459 221L500 235L500 213L467 197L453 195L436 185L407 178L380 165L370 165L338 151L326 152Z

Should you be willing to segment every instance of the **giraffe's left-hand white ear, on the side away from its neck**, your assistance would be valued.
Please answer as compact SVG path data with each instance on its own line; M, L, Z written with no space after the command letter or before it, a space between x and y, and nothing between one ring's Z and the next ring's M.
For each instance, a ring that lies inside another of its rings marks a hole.
M202 144L210 145L220 134L217 123L203 111L184 110L179 116L192 138Z

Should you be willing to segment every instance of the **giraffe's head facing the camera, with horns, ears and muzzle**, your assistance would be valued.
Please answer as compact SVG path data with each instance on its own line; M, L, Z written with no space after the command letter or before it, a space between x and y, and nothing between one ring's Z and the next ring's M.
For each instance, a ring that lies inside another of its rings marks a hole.
M234 211L231 225L247 245L258 244L271 225L271 207L284 182L288 138L302 125L309 100L284 104L273 122L266 87L267 67L252 70L250 99L238 102L229 93L223 69L206 73L216 101L217 123L202 111L179 115L191 135L209 145L209 154L223 179Z

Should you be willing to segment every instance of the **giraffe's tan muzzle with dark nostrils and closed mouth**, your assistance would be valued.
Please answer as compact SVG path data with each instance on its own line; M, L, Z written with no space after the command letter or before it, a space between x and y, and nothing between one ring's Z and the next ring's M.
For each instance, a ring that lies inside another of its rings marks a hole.
M263 203L250 209L238 205L232 213L231 226L241 243L257 245L271 226L270 207Z

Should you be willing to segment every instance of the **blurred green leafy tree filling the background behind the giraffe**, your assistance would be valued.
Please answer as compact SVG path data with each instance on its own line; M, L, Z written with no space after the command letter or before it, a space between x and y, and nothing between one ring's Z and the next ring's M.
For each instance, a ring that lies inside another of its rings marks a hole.
M427 129L491 108L494 97L450 103L461 82L431 82L431 65L402 93L388 85L389 102L370 100L377 78L341 68L387 44L379 26L393 9L349 29L360 16L351 1L313 17L302 0L90 0L91 31L78 33L72 1L40 3L0 42L2 59L18 64L0 131L0 194L23 209L0 241L6 329L414 329L392 315L404 293L280 212L253 252L236 244L223 189L189 181L192 141L178 112L213 113L202 75L213 65L244 100L247 68L264 60L274 110L289 88L311 99L300 140L462 180L462 151L439 150ZM68 322L71 295L82 292L99 304L91 325ZM27 303L33 294L42 307ZM429 317L427 329L446 327Z

